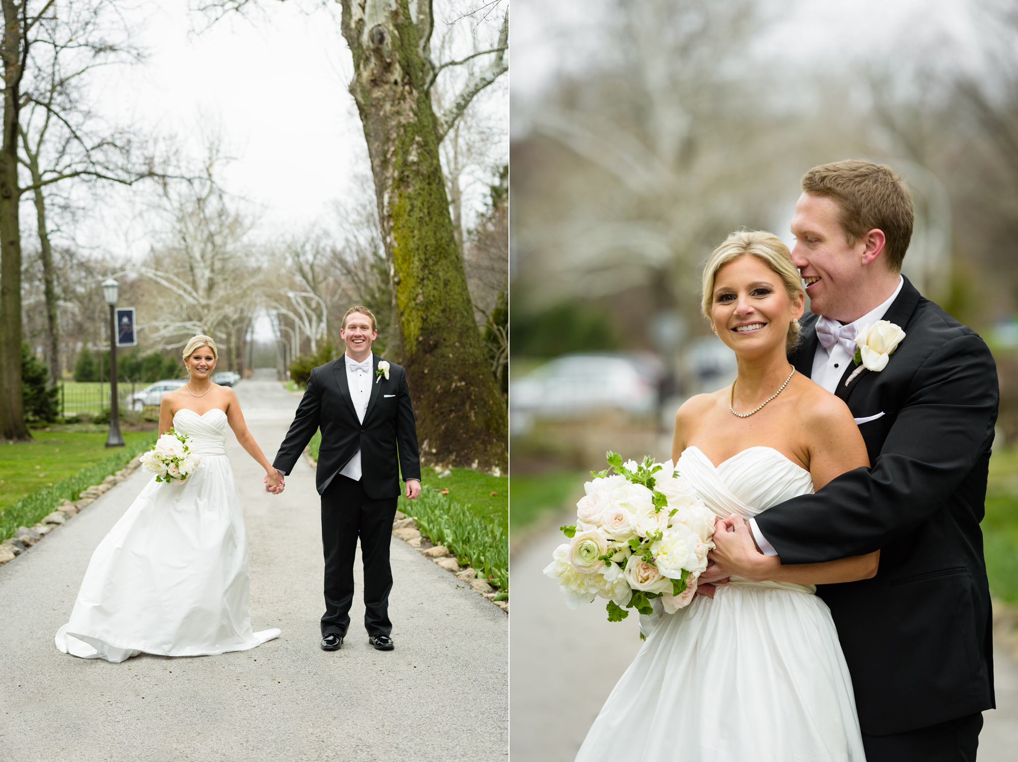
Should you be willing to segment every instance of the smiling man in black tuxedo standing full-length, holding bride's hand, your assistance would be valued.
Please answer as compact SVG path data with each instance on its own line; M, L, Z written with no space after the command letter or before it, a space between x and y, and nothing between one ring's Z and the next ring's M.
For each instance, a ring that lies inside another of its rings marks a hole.
M367 640L379 650L391 651L389 543L400 473L406 496L420 494L417 432L406 373L372 353L378 337L372 312L364 307L347 311L340 335L346 351L312 371L273 466L289 474L315 432L322 430L316 477L325 551L322 648L337 650L350 625L359 539Z

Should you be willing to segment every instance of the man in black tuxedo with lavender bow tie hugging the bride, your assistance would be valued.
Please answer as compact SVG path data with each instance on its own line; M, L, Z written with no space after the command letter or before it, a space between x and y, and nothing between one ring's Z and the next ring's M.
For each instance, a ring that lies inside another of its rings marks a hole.
M900 275L912 202L886 166L810 169L792 261L810 310L798 372L845 400L869 454L819 492L744 526L748 564L818 563L881 551L870 580L822 585L852 674L867 762L975 762L994 707L992 615L982 557L997 366L975 331ZM864 324L905 337L882 370L852 356ZM730 535L723 538L723 542ZM759 559L759 560L755 560ZM709 569L751 576L750 566Z

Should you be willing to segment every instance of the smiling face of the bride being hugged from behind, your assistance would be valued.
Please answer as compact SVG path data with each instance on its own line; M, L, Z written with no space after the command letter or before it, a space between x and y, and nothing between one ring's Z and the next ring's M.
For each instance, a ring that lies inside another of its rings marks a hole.
M803 305L801 293L789 297L778 273L745 255L715 275L711 327L739 353L784 348L788 326L802 317Z

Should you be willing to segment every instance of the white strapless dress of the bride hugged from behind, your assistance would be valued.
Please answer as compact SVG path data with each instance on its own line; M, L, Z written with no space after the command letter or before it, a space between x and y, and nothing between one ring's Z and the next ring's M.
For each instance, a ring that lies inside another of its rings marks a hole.
M771 447L718 468L688 447L677 468L721 516L813 491L809 473ZM733 577L675 614L655 608L577 762L865 760L838 633L813 586Z

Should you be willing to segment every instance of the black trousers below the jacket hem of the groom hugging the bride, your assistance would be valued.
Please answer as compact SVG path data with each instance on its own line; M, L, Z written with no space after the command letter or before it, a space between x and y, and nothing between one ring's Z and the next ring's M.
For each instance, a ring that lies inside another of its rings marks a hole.
M975 762L982 714L891 736L862 733L866 762Z

